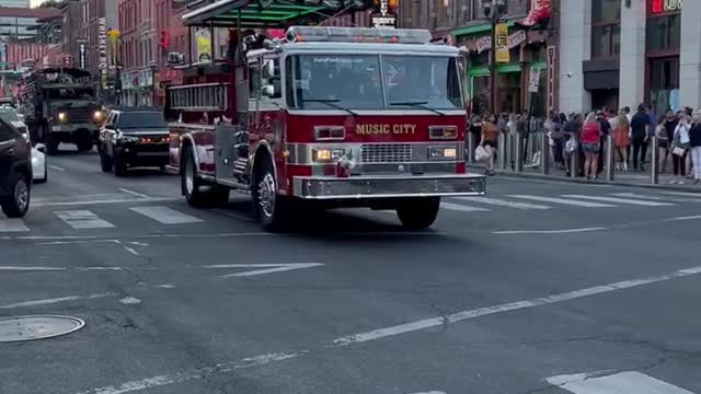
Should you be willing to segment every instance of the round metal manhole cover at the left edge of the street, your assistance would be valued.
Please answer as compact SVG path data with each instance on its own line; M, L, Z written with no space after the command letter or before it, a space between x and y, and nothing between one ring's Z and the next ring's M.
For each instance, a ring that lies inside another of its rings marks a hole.
M85 325L70 316L15 316L0 318L0 343L51 338L79 331Z

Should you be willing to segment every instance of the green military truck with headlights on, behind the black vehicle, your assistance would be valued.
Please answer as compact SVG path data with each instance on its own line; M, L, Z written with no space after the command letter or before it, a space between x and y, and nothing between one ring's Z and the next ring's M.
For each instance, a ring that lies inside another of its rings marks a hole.
M61 142L92 150L105 115L90 71L54 67L32 70L22 79L20 112L33 141L44 141L56 154Z

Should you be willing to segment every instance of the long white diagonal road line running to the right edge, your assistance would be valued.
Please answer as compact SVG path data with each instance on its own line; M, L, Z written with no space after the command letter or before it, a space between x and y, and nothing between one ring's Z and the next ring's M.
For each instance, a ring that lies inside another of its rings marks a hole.
M670 274L648 277L648 278L640 278L632 280L624 280L608 285L595 286L590 288L574 290L565 293L553 294L548 297L541 297L530 300L516 301L499 305L478 308L474 310L462 311L458 313L450 314L448 316L437 316L424 318L417 322L411 322L406 324L400 324L391 327L374 329L367 333L355 334L346 337L341 337L338 339L333 340L333 345L336 346L347 346L352 344L366 343L370 340L377 340L386 337L391 337L394 335L412 333L421 329L426 329L430 327L443 326L448 323L456 323L467 320L473 320L482 316L494 315L510 311L519 311L525 309L531 309L535 306L561 303L564 301L576 300L579 298L591 297L597 294L604 294L612 291L619 291L623 289L631 289L640 286L658 283L668 281L671 279L689 277L693 275L701 274L701 266L696 266L687 269L680 269Z

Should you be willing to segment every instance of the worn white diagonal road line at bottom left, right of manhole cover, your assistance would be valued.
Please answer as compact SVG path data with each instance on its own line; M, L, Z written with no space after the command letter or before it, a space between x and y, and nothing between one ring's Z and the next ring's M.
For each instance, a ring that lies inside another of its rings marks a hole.
M294 359L308 354L307 350L287 352L287 354L268 354L256 357L245 358L234 362L221 362L211 367L204 367L186 372L162 374L158 376L146 378L131 382L126 382L119 385L112 385L106 387L97 387L87 390L77 394L126 394L134 393L147 389L160 387L171 385L175 383L187 382L192 380L205 379L208 375L216 373L228 373L240 369L253 368L265 366L272 362L279 362L289 359Z

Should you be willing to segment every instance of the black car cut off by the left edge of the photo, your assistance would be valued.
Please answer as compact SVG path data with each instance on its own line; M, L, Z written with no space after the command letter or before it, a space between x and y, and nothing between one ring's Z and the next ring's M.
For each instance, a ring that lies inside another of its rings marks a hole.
M30 209L32 144L22 132L0 119L0 206L9 218Z

